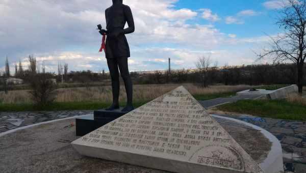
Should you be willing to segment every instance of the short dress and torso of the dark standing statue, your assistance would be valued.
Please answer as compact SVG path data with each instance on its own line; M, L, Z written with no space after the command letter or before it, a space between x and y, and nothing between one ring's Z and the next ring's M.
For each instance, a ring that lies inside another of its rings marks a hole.
M130 57L130 47L124 34L129 34L131 32L129 30L124 32L123 30L126 22L129 27L132 26L134 28L134 20L130 7L123 4L113 5L106 9L105 17L108 31L105 52L106 58ZM114 32L120 32L122 34L115 37L112 36Z

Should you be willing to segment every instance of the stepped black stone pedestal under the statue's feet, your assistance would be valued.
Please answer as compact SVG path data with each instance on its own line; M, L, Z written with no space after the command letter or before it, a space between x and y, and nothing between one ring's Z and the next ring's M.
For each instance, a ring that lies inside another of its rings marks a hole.
M121 109L122 108L113 111L105 109L95 110L93 115L75 119L76 135L84 136L128 113L122 112Z

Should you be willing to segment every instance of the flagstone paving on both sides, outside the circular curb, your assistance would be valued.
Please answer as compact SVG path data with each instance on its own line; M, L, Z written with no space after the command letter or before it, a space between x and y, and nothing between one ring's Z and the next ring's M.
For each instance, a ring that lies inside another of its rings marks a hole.
M84 114L91 110L40 111L40 112L0 112L0 133L18 127L63 119ZM239 119L266 129L275 135L282 144L287 171L306 172L306 122L286 121L251 116L217 114L218 116Z

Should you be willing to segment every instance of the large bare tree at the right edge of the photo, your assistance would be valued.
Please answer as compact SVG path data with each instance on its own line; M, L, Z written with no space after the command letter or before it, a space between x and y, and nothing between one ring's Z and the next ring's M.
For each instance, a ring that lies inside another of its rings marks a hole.
M270 49L260 54L260 59L271 56L273 62L291 61L296 65L298 91L303 90L303 66L306 59L306 0L288 0L278 11L276 24L283 28L284 34L272 38Z

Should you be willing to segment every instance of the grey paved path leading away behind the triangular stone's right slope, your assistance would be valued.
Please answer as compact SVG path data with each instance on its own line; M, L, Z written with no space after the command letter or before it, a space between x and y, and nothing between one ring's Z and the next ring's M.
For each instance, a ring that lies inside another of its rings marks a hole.
M199 103L205 108L211 108L220 104L224 103L233 103L237 102L238 100L249 100L249 99L256 99L260 96L250 96L250 95L242 95L242 96L233 96L228 98L217 98L212 100L199 100Z

